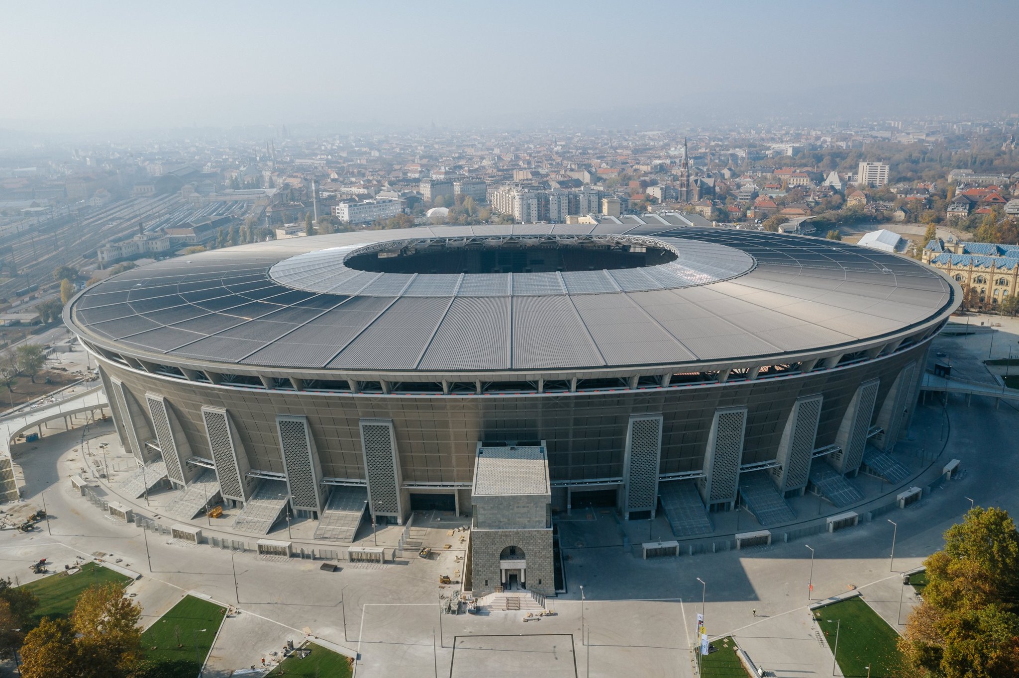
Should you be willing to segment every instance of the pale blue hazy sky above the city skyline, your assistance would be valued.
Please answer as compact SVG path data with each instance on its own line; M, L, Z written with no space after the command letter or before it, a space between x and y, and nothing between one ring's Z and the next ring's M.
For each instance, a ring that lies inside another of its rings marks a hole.
M1015 112L1017 19L1017 0L11 1L0 126Z

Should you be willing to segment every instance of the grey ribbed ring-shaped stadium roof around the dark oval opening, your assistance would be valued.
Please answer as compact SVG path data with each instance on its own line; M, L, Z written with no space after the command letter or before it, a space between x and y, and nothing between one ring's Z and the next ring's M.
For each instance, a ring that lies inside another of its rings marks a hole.
M657 221L432 226L243 245L122 273L84 291L65 317L91 341L171 364L448 373L782 356L890 337L955 306L945 276L901 257ZM607 272L461 276L344 264L358 247L387 241L544 234L653 238L677 258Z

